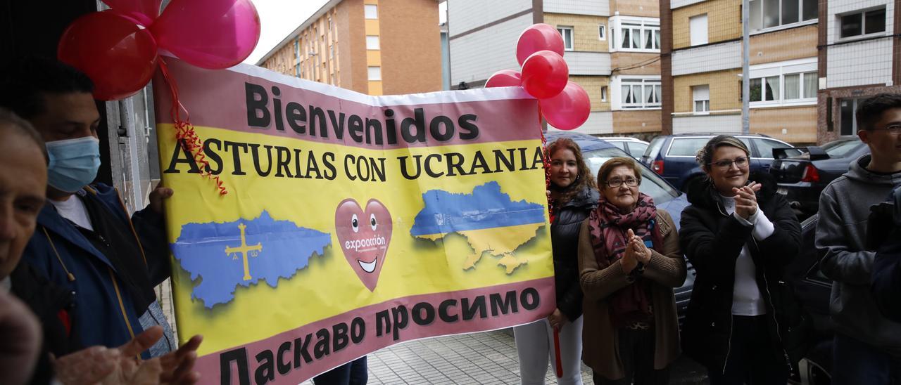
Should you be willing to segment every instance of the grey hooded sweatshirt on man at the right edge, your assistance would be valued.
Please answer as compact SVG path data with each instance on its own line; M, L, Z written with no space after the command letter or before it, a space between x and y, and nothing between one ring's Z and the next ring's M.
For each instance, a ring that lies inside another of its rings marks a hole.
M878 175L867 165L869 155L851 162L848 172L823 190L815 246L820 269L834 281L829 307L835 330L896 355L901 353L901 323L883 317L869 292L876 253L865 251L864 242L869 206L901 185L901 172Z

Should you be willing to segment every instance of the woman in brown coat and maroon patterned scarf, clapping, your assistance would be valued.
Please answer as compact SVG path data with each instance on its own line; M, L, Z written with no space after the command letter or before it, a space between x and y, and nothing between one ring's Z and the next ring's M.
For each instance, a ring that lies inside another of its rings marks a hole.
M677 228L639 192L631 157L606 161L597 181L601 200L578 239L582 360L597 384L667 384L679 354L673 288L686 277Z

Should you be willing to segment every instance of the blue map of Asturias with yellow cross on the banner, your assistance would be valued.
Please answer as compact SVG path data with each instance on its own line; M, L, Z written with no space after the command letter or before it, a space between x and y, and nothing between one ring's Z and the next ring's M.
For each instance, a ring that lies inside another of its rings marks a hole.
M178 263L201 282L192 297L207 308L234 299L239 286L266 281L276 287L290 279L314 255L323 255L332 236L288 220L275 220L263 211L259 218L226 223L188 223L172 245Z

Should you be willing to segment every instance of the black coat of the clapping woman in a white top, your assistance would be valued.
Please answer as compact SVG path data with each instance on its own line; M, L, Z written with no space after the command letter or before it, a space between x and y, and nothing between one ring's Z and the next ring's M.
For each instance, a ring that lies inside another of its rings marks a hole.
M691 206L682 211L679 245L697 273L682 328L682 350L708 368L724 368L729 354L735 260L744 246L757 267L773 354L784 357L787 365L803 354L803 346L796 342L803 339L803 333L796 329L804 320L783 277L785 266L798 254L801 227L786 199L776 193L772 177L752 173L750 179L762 184L757 193L758 210L763 210L775 227L766 239L755 240L752 227L727 215L709 182L689 189Z

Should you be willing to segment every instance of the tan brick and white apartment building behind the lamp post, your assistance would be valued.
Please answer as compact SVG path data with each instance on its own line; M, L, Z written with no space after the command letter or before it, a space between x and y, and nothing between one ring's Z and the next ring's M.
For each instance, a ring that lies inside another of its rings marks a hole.
M751 0L751 132L817 141L817 0ZM663 130L742 130L742 1L661 2Z

